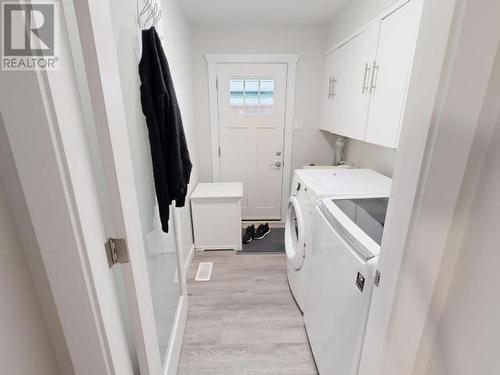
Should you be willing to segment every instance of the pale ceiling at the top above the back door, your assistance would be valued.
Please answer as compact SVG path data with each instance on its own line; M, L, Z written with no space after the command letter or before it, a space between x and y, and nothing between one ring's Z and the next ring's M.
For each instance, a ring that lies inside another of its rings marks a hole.
M194 23L320 24L349 0L180 0Z

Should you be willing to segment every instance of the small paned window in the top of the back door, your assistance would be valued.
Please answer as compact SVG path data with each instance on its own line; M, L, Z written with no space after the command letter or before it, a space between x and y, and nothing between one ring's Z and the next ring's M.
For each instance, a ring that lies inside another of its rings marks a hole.
M274 110L274 80L237 78L229 81L231 109L240 113Z

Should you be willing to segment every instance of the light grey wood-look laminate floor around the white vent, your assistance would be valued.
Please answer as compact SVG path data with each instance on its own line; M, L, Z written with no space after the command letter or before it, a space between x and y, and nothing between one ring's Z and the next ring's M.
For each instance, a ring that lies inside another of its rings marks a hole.
M214 262L210 281L194 281ZM284 254L197 253L179 375L317 375Z

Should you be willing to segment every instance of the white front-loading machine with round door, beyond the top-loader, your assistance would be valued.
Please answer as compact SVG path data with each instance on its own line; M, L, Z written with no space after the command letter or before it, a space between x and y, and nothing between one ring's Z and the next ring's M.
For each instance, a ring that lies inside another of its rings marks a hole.
M285 221L285 249L290 290L304 311L306 274L315 203L324 197L389 196L391 179L370 169L297 169Z

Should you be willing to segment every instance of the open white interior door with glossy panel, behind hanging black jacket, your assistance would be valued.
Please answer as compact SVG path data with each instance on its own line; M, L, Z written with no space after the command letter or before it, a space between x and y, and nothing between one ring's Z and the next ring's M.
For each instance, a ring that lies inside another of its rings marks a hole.
M176 332L187 312L180 224L173 207L169 233L159 222L137 72L137 3L75 7L75 14L70 5L65 10L105 233L128 247L128 262L107 272L121 297L132 364L142 375L175 374L182 341Z

